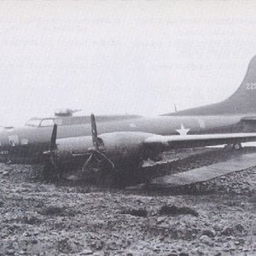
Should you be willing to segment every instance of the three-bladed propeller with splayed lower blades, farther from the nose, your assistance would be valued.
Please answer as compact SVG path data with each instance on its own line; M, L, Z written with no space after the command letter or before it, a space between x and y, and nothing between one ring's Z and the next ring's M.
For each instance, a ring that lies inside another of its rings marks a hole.
M102 152L103 143L102 140L98 137L96 119L93 113L90 115L90 125L93 147L88 149L90 152L90 157L84 163L83 170L86 169L93 161L96 162L96 164L100 164L103 161L106 161L111 166L111 168L114 169L113 161L110 160L108 156Z

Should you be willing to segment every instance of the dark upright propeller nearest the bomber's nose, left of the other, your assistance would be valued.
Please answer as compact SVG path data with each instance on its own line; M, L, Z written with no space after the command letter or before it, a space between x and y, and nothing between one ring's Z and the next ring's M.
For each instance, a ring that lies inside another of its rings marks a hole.
M56 138L57 138L57 125L55 124L51 133L50 141L49 141L49 149L43 152L43 155L45 157L45 162L46 162L44 168L52 168L57 178L60 179L60 172L56 164L56 155L55 155L55 150L57 149Z

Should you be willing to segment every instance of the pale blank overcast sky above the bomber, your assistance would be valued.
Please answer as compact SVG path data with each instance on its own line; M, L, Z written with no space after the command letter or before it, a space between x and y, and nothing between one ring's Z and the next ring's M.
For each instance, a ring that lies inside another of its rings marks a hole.
M0 125L55 108L218 102L256 55L256 1L1 1Z

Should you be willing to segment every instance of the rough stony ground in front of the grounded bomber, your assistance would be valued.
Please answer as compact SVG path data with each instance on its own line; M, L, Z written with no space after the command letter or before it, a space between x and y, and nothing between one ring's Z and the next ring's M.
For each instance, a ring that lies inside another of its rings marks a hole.
M216 155L190 160L182 171ZM43 183L38 171L0 166L0 255L256 254L255 167L183 195Z

